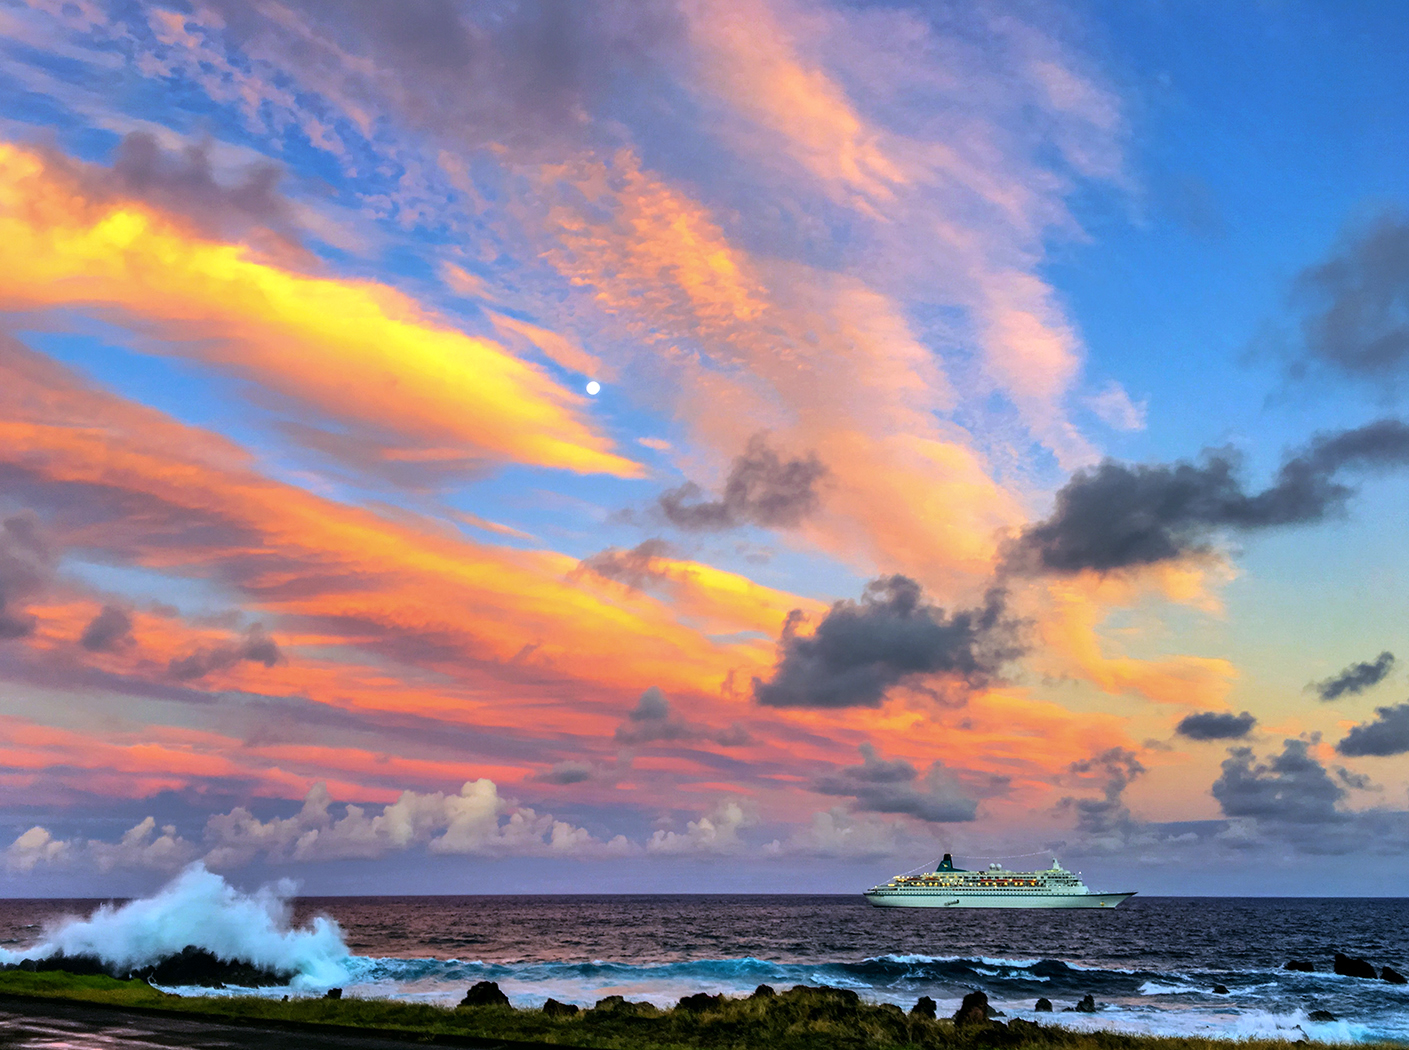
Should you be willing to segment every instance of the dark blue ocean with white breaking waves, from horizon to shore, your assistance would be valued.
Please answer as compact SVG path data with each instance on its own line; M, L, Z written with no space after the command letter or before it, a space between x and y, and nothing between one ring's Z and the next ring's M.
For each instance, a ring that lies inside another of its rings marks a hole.
M606 995L666 1006L699 991L827 984L905 1008L929 995L952 1012L981 988L1009 1016L1078 1029L1409 1044L1409 987L1332 972L1336 951L1409 972L1406 899L1136 896L1113 910L929 910L871 908L861 896L283 903L232 894L178 892L165 905L138 902L148 906L141 915L110 910L68 927L62 916L87 916L99 902L3 901L0 960L58 943L135 958L151 927L186 920L189 930L163 932L168 947L204 937L228 951L230 937L247 937L247 954L299 970L293 994L335 984L344 995L454 1003L488 980L516 1006L541 1006L548 996L589 1006ZM240 908L255 912L227 915ZM259 913L269 929L256 929ZM335 927L311 925L317 916ZM1291 958L1312 961L1316 972L1284 970ZM1216 984L1227 994L1215 994ZM1096 1013L1062 1012L1086 994ZM1055 1013L1036 1015L1038 996ZM1313 1011L1336 1020L1310 1020Z

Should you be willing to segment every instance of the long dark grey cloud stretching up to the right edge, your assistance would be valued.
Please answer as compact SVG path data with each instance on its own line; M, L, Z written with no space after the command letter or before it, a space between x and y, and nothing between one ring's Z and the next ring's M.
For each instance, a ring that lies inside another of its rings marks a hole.
M1129 465L1107 459L1078 471L1057 506L1007 544L1010 571L1109 572L1208 550L1222 530L1309 524L1339 512L1354 489L1334 479L1346 468L1409 465L1409 426L1385 419L1320 434L1286 459L1272 485L1247 492L1231 454L1199 464Z

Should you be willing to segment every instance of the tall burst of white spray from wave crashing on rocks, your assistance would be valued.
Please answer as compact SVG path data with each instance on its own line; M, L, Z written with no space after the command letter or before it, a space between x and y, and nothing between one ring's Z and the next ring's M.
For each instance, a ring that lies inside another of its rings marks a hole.
M128 968L158 963L194 944L224 960L292 971L296 987L341 982L349 956L342 932L323 916L309 926L290 927L293 892L293 882L282 879L242 894L197 861L152 896L120 908L103 905L87 919L65 919L24 951L0 949L0 961L62 953L97 956Z

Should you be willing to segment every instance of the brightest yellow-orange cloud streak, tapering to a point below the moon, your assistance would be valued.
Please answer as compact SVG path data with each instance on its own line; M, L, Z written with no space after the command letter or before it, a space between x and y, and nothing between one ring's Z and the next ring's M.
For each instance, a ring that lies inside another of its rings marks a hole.
M641 474L581 417L583 399L409 296L280 269L135 202L86 199L65 171L8 144L0 272L0 307L117 310L154 326L161 352L385 436L387 459Z

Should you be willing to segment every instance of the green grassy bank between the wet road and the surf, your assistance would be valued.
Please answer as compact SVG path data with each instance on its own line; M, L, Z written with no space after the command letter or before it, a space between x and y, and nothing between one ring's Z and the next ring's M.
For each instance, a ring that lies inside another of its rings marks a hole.
M716 998L702 1009L661 1011L607 1001L575 1016L509 1006L444 1009L385 999L296 999L179 996L142 981L72 974L0 972L0 994L45 996L108 1006L242 1020L347 1025L383 1032L478 1036L603 1050L902 1050L954 1047L1069 1047L1071 1050L1227 1050L1227 1042L1115 1033L1079 1033L1024 1020L955 1026L903 1013L898 1006L861 1002L851 992L796 988L774 996ZM1250 1050L1292 1043L1239 1043Z

